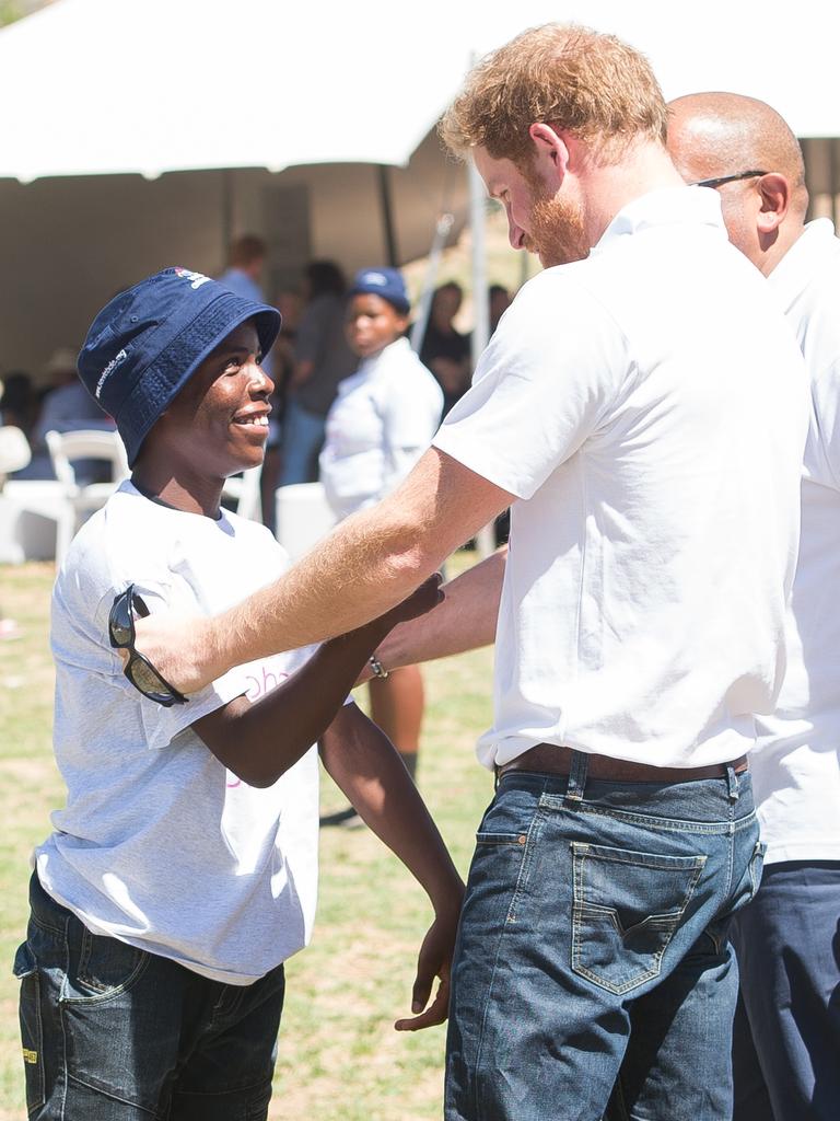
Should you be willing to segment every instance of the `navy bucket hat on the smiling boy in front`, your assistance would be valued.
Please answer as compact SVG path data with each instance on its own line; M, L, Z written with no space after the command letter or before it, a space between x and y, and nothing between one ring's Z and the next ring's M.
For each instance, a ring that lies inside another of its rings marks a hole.
M156 272L105 304L78 355L78 376L116 421L130 465L197 367L251 318L268 354L280 331L277 308L184 268Z

